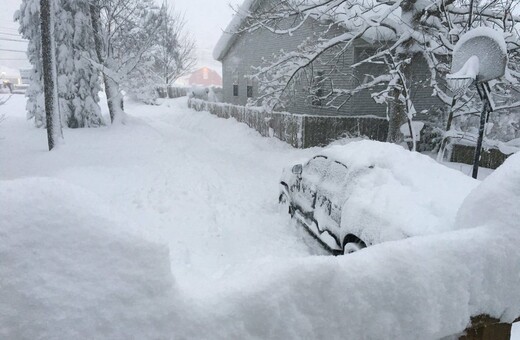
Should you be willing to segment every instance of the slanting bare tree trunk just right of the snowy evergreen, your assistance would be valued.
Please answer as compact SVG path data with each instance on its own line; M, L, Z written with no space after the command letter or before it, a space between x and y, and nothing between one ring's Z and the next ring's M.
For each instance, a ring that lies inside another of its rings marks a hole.
M90 3L90 16L92 20L92 29L94 31L94 44L98 62L107 67L107 58L103 55L103 41L101 40L101 15L98 1ZM110 113L110 121L112 124L121 123L124 116L123 96L119 90L119 84L105 72L103 72L103 83L105 84L105 94L107 96L108 112Z

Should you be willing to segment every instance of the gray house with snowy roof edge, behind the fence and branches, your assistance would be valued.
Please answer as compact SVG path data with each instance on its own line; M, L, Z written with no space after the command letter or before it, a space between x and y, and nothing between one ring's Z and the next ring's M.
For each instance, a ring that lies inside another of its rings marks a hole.
M242 8L243 12L255 12L268 0L246 1ZM268 30L257 29L252 32L242 32L233 34L229 32L239 31L244 24L240 15L235 15L233 21L225 30L216 48L213 57L222 62L223 75L223 101L235 105L245 105L250 98L257 98L262 95L259 92L258 83L251 80L247 75L253 73L252 67L264 65L265 60L272 58L274 54L296 50L306 39L312 39L314 32L323 31L331 28L318 20L309 19L294 31L292 35L277 35ZM325 28L326 27L326 28ZM370 32L368 32L370 33ZM382 41L383 40L383 41ZM366 34L355 41L345 53L342 54L340 63L341 72L335 72L328 76L329 81L342 88L355 88L367 81L367 74L377 75L378 69L381 73L383 65L362 64L356 68L351 65L373 55L378 47L383 46L384 39L377 33ZM323 61L331 58L331 55L324 55L320 62L312 65L314 77L321 74L328 74L331 66ZM417 112L430 111L442 107L441 101L432 96L429 84L429 69L426 61L422 57L415 57L409 72L409 79L413 80L412 100L415 103ZM309 96L310 80L300 77L299 84L295 86L294 93L291 93L289 100L285 104L284 110L293 114L311 115L334 115L334 116L378 116L386 117L386 105L376 103L371 94L375 91L365 90L352 96L340 109L327 107L323 103L313 100ZM314 79L316 81L316 79ZM323 89L326 91L326 89ZM424 118L422 116L421 118Z

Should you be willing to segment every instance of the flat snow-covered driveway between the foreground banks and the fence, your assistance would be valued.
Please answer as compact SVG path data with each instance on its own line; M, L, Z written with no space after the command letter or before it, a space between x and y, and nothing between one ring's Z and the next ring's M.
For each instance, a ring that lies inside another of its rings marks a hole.
M44 131L25 121L22 98L15 99L0 130L1 178L44 175L93 191L132 229L169 245L186 289L205 290L265 257L309 254L276 202L282 167L312 150L192 111L182 98L131 104L126 126L65 130L66 144L49 154Z

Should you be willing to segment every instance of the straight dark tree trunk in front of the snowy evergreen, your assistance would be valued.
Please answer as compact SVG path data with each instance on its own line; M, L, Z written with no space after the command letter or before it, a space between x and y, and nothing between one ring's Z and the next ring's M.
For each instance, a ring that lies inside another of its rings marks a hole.
M47 142L52 150L62 136L61 119L58 110L56 87L56 54L52 41L51 0L40 0L40 21L42 39L43 84L45 96L45 115L47 122Z

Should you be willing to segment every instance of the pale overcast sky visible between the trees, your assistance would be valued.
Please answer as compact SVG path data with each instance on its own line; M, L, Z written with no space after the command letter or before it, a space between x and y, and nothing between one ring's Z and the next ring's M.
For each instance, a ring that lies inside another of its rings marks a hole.
M162 3L162 0L156 0ZM13 13L21 0L0 0L0 72L4 69L19 69L30 67L24 53L8 50L26 49L26 43L9 41L6 39L20 39L17 34L18 25L13 22ZM180 13L184 13L186 30L190 32L197 43L198 66L209 66L219 73L220 63L213 60L213 47L220 38L222 31L231 20L233 10L229 4L240 4L242 0L168 0L171 6ZM3 66L3 68L2 68ZM5 72L5 71L4 71Z

